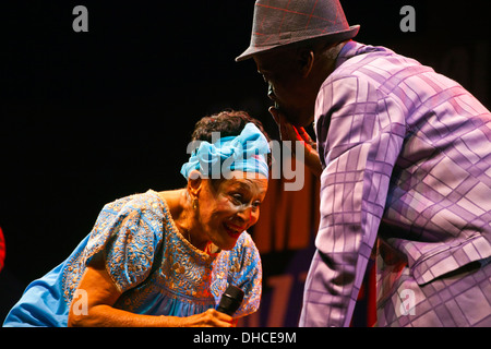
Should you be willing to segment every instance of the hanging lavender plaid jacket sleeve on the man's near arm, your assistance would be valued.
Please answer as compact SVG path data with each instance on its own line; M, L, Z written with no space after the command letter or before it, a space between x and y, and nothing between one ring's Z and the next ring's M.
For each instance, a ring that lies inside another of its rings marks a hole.
M406 125L397 104L362 75L326 80L315 115L321 220L300 325L349 326Z

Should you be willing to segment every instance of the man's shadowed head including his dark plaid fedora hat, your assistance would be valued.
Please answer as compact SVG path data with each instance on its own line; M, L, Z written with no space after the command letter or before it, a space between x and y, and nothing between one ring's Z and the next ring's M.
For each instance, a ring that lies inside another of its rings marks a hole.
M251 44L236 60L254 58L268 97L294 125L307 125L338 44L358 29L348 25L338 0L258 0Z

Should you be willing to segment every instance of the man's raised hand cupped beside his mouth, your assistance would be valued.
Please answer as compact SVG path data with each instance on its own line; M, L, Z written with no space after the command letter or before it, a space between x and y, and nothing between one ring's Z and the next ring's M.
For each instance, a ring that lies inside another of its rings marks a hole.
M312 141L312 139L303 128L296 128L290 122L288 122L285 116L278 109L276 109L275 107L270 107L268 110L273 119L278 124L279 136L282 141L301 142L301 145L303 147L304 164L316 177L320 177L322 173L322 165L319 158L315 142ZM296 149L297 146L291 146L291 154L294 156L296 156Z

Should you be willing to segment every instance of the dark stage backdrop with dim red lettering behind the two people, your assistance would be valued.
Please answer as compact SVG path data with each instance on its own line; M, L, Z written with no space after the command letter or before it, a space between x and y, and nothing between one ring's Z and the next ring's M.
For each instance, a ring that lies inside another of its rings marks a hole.
M28 282L62 262L91 231L105 203L184 185L179 169L201 117L246 109L277 137L253 61L233 61L249 44L253 3L2 1L1 321ZM77 4L88 10L88 33L72 29ZM358 41L416 58L490 107L484 1L342 4L348 22L361 25ZM416 10L414 33L399 28L405 4ZM286 194L272 185L265 222L260 219L252 231L263 256L263 302L243 325L297 325L318 219L316 184L308 183L302 193L288 194L290 206L280 207ZM309 212L295 208L309 200ZM296 229L286 233L291 220ZM360 305L355 325L366 323Z

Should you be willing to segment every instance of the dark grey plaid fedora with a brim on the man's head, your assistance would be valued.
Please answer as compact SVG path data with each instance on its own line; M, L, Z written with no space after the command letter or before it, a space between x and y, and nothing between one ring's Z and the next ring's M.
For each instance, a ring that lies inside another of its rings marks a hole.
M349 26L338 0L258 0L251 44L236 61L321 37L332 41L351 39L359 28Z

